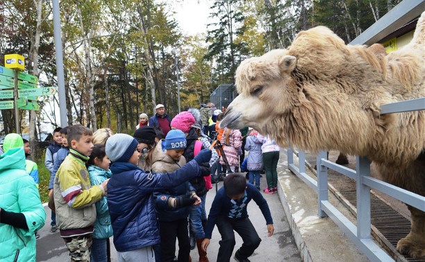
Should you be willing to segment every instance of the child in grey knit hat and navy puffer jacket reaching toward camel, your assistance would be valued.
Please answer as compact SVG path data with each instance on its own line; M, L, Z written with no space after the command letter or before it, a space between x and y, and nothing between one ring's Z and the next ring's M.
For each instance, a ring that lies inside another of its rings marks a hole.
M138 141L128 134L114 134L106 141L106 155L113 162L108 182L108 207L118 261L155 261L153 245L160 243L154 191L172 189L203 173L199 164L211 158L211 150L172 173L146 173L138 168Z

